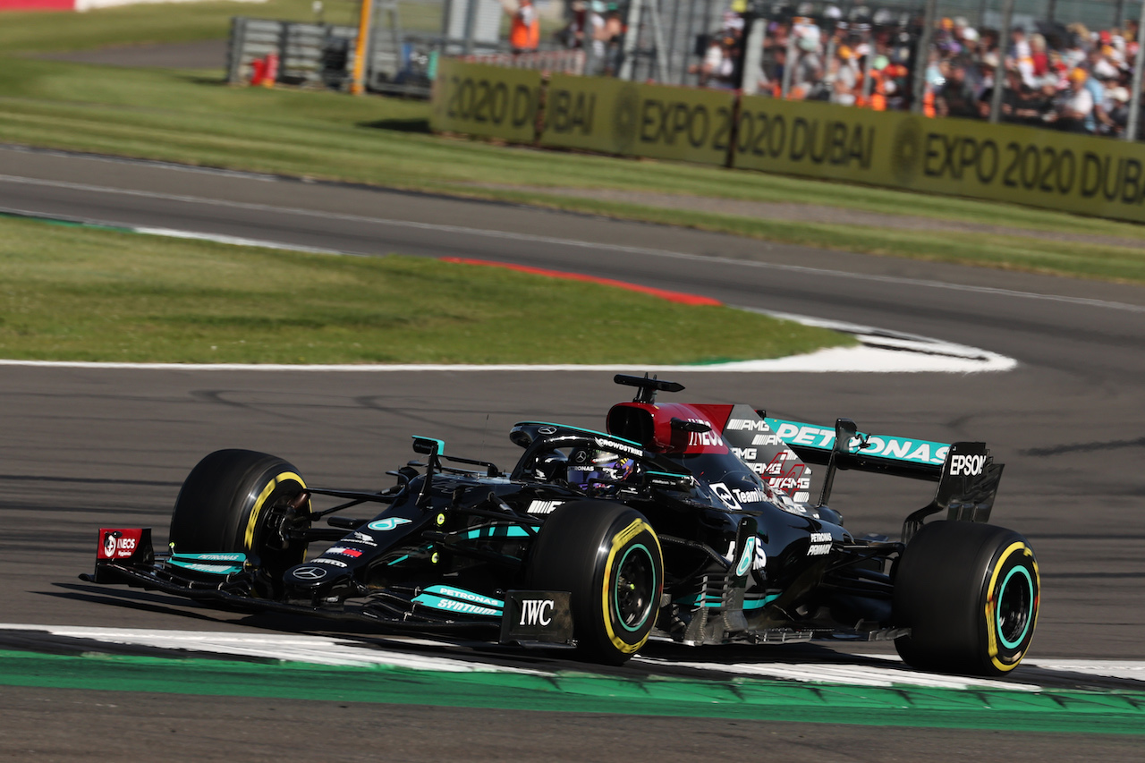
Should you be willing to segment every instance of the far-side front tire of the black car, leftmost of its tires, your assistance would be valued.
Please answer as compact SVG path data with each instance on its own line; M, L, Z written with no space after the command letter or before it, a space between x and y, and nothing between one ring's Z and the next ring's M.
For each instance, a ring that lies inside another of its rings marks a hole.
M216 450L183 481L171 516L169 540L179 553L242 551L258 566L262 595L273 595L283 573L301 564L306 543L285 528L309 527L306 482L286 461L254 450Z

